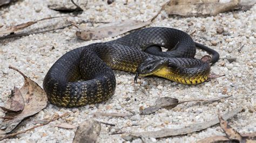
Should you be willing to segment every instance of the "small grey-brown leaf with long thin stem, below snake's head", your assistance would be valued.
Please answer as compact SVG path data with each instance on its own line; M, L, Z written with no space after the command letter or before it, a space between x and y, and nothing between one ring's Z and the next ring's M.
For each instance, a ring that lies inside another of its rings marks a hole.
M156 100L156 102L155 102L156 105L150 106L149 108L145 108L143 110L140 110L140 114L141 115L151 114L151 113L158 111L161 108L170 110L170 109L173 109L174 107L176 107L177 105L179 105L181 103L185 103L185 102L194 102L194 101L214 102L214 101L219 101L220 99L227 98L227 97L231 97L231 96L218 97L218 98L214 98L214 99L190 99L188 101L181 101L181 102L179 102L179 100L177 98L161 97Z

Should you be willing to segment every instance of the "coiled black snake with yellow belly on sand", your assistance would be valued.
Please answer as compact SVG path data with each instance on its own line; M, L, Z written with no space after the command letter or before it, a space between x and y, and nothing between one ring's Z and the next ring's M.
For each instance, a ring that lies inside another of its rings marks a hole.
M211 59L194 58L196 47L212 54ZM194 42L186 32L148 27L65 53L48 70L43 89L53 105L79 107L106 101L114 94L113 70L136 73L134 81L138 76L153 75L183 84L199 84L207 81L210 63L218 59L218 52Z

